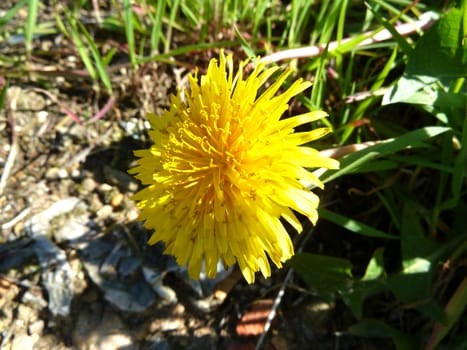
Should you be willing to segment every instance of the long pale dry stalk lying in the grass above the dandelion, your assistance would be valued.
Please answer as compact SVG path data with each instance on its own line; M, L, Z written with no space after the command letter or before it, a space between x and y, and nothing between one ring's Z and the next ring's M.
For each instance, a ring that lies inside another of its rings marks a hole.
M435 19L432 16L426 16L413 23L404 23L398 25L395 27L395 30L400 35L409 35L418 30L425 30L429 28L434 22ZM364 36L367 38L362 40L357 45L357 47L378 43L392 38L391 32L387 29L382 29L381 31L376 33L374 31L365 32ZM263 58L261 58L260 62L271 63L293 58L315 57L321 55L326 49L329 52L337 50L340 45L345 44L354 39L355 38L345 38L340 41L332 41L328 45L321 44L279 51L269 56L264 56Z

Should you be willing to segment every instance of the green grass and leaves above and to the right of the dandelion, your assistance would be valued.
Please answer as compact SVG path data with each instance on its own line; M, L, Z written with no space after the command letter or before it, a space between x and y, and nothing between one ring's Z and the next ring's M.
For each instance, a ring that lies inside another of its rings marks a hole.
M315 146L345 151L341 169L322 174L331 199L321 216L343 230L377 239L379 247L367 252L363 276L352 274L352 256L308 252L298 254L291 266L318 294L344 300L357 319L350 329L354 334L389 334L399 349L431 349L440 343L450 349L464 339L460 330L466 315L456 310L467 305L467 52L459 39L467 32L466 1L457 7L455 2L441 7L403 0L111 3L112 10L100 22L90 1L73 9L56 2L54 25L48 28L49 35L63 35L77 68L87 72L95 94L105 97L118 99L117 64L137 75L150 62L194 68L193 57L202 61L221 47L240 56L266 56L322 45L314 57L279 62L295 67L296 76L313 79L313 90L302 103L330 114L326 123L335 132ZM15 20L24 8L24 22ZM22 74L30 74L27 61L39 54L35 41L40 41L41 8L39 1L23 0L0 18L3 41L24 35L26 61L19 52L17 60L0 62L7 79L18 79L18 62ZM441 20L418 30L425 35L409 38L397 32L400 24L413 23L429 11ZM94 18L94 24L83 22L83 16ZM359 46L382 30L392 39ZM109 36L112 42L106 40ZM335 47L329 44L333 41ZM70 78L66 70L57 74ZM51 83L47 79L42 76L44 87ZM332 193L332 184L340 189ZM362 203L357 207L356 198ZM385 240L397 241L397 248ZM385 257L391 254L400 258L388 265ZM449 279L441 268L444 263L452 269ZM333 278L324 283L326 274ZM443 283L454 287L442 288ZM423 316L424 327L400 329L390 315L375 319L365 301L389 292L401 309Z

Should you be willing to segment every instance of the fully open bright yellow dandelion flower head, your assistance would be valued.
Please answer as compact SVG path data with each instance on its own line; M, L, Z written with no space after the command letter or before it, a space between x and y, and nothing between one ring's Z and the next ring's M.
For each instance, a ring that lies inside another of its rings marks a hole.
M172 96L162 116L148 114L154 144L135 152L130 170L146 186L133 199L140 220L155 230L148 243L164 241L165 253L188 264L194 279L203 264L215 277L219 260L238 263L248 283L257 271L269 277L269 260L281 267L294 254L281 218L298 232L293 211L318 219L319 198L304 184L323 184L307 168L339 165L303 146L328 128L294 133L324 112L281 119L288 101L311 84L299 79L276 96L287 70L259 94L278 68L256 62L244 77L246 63L234 71L232 56L221 53L206 75L190 75L189 89Z

